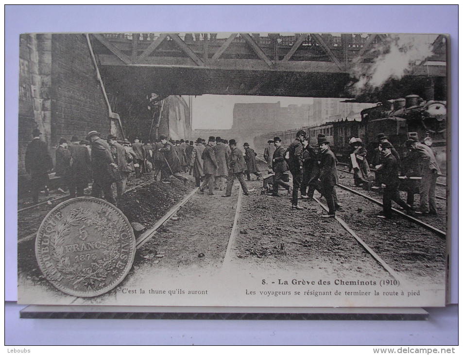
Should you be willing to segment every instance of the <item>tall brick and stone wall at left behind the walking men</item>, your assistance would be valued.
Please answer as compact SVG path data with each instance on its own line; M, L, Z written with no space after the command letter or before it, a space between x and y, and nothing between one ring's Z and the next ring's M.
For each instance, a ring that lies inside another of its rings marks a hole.
M106 137L118 123L109 109L83 34L25 34L19 37L18 189L27 174L24 158L34 128L51 157L60 138L83 140L90 130ZM112 124L111 124L112 123Z

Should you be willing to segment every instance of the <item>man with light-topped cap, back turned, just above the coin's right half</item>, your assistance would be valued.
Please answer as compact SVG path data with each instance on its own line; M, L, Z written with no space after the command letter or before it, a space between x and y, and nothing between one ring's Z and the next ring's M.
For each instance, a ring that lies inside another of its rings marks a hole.
M117 168L117 164L113 160L111 148L97 131L88 132L86 140L92 143L92 196L101 198L103 192L106 201L116 204L111 185L116 181L113 169Z

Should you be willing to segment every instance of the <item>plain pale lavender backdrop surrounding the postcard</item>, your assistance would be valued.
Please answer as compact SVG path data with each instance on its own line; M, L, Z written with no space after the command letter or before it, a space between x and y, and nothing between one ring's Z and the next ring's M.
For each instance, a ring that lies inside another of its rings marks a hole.
M18 40L27 32L349 32L450 35L450 303L458 302L457 5L6 5L5 301L16 301ZM19 320L5 303L6 345L39 344L457 344L457 306L427 322ZM96 336L97 322L101 335ZM143 322L143 323L140 323ZM218 323L220 322L220 323ZM137 326L130 326L128 324ZM201 323L198 324L198 323ZM147 326L149 324L149 326ZM220 324L220 325L218 325ZM69 333L72 329L72 336ZM142 329L142 330L141 330ZM152 332L155 332L153 334ZM130 333L130 334L129 334ZM147 335L150 336L147 336ZM117 337L116 335L120 335Z

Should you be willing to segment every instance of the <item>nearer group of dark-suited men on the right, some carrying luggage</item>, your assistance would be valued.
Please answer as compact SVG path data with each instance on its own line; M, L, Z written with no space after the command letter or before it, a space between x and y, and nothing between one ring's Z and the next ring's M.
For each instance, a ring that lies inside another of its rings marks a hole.
M301 199L313 198L317 190L326 198L328 213L323 217L334 217L336 211L342 211L338 203L335 186L339 183L337 175L337 160L330 149L330 143L325 135L317 137L318 150L310 145L306 132L300 130L296 138L287 149L281 145L281 139L274 137L268 141L264 150L264 159L268 163L269 172L274 172L272 196L278 196L278 187L281 186L292 192L292 209L300 210L298 206L298 191ZM349 171L353 170L354 184L365 190L371 188L371 170L367 161L367 151L363 147L360 138L352 137ZM376 179L373 188L383 189L383 211L379 218L392 218L392 201L396 202L407 213L437 214L435 189L437 177L441 175L434 152L430 148L432 141L425 138L423 143L416 138L407 140L408 152L405 155L404 168L401 169L399 154L394 149L388 137L383 133L377 136L377 148L375 149L374 163L371 167L376 169ZM285 172L292 175L292 187L285 179ZM407 189L407 202L404 202L399 194L399 174L403 173L403 180L409 187ZM410 177L421 177L418 193L420 194L420 209L413 211L415 183L407 181Z

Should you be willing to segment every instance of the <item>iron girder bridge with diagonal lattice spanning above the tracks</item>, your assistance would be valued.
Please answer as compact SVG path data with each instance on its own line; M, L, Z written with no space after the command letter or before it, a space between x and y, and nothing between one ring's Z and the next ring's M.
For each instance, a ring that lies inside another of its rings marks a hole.
M369 49L386 37L343 34L339 40L326 34L229 34L217 39L216 34L185 34L181 38L172 33L92 36L105 82L116 90L138 95L140 90L147 90L160 95L306 97L349 97L346 87L353 80L350 74L354 66L366 72L375 59ZM437 58L440 61L433 58L434 65L414 65L407 74L445 77L445 55Z

